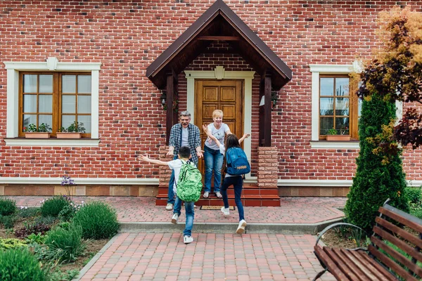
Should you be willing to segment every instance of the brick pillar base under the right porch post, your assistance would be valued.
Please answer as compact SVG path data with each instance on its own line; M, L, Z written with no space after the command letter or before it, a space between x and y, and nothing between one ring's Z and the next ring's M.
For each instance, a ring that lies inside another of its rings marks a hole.
M279 150L276 147L258 148L258 187L277 188L279 178Z

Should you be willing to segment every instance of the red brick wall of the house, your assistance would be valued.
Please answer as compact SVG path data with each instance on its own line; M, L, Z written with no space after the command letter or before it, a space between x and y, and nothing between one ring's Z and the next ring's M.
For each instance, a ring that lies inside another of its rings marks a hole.
M177 2L177 3L175 3ZM179 3L180 2L180 3ZM160 91L146 76L150 65L214 0L0 1L0 61L99 62L98 148L11 148L0 143L0 176L158 178L158 166L139 164L136 153L158 158L165 145ZM273 111L272 145L279 148L283 179L351 180L357 150L311 149L310 64L351 64L376 48L379 11L422 1L225 1L293 70ZM222 46L224 47L224 46ZM189 66L251 70L242 58L201 55ZM6 70L0 63L0 109L6 114ZM183 77L183 75L179 75ZM252 148L257 146L259 77L252 83ZM179 83L186 109L186 80ZM0 119L6 137L6 118ZM404 154L408 178L422 180L422 150ZM252 159L257 159L256 148ZM257 164L252 163L253 171Z

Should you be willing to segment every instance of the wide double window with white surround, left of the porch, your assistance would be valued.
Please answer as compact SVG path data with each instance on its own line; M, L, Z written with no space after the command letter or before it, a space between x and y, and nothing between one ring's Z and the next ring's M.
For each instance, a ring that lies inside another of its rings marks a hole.
M101 63L60 63L51 57L44 62L4 62L4 65L7 70L6 144L30 144L30 140L18 139L24 136L23 127L29 124L49 124L54 136L60 127L79 122L85 128L82 137L93 141L72 141L72 144L98 145ZM48 145L51 141L59 145L67 142L51 138L41 144Z

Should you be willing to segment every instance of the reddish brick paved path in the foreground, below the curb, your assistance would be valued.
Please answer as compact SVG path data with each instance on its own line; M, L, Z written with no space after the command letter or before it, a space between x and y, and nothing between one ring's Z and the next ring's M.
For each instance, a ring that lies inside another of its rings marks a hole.
M312 280L312 235L120 233L81 280ZM335 280L326 274L321 280Z

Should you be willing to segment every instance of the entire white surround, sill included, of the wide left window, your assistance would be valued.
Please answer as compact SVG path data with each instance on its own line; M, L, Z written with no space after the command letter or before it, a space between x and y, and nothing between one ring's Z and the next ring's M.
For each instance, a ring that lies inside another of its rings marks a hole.
M98 146L98 93L99 71L101 63L60 63L56 57L49 57L45 62L4 62L7 70L7 121L6 145L37 146ZM65 140L51 138L35 140L18 138L19 120L19 72L22 71L56 71L56 72L90 72L91 73L91 138L81 140Z

